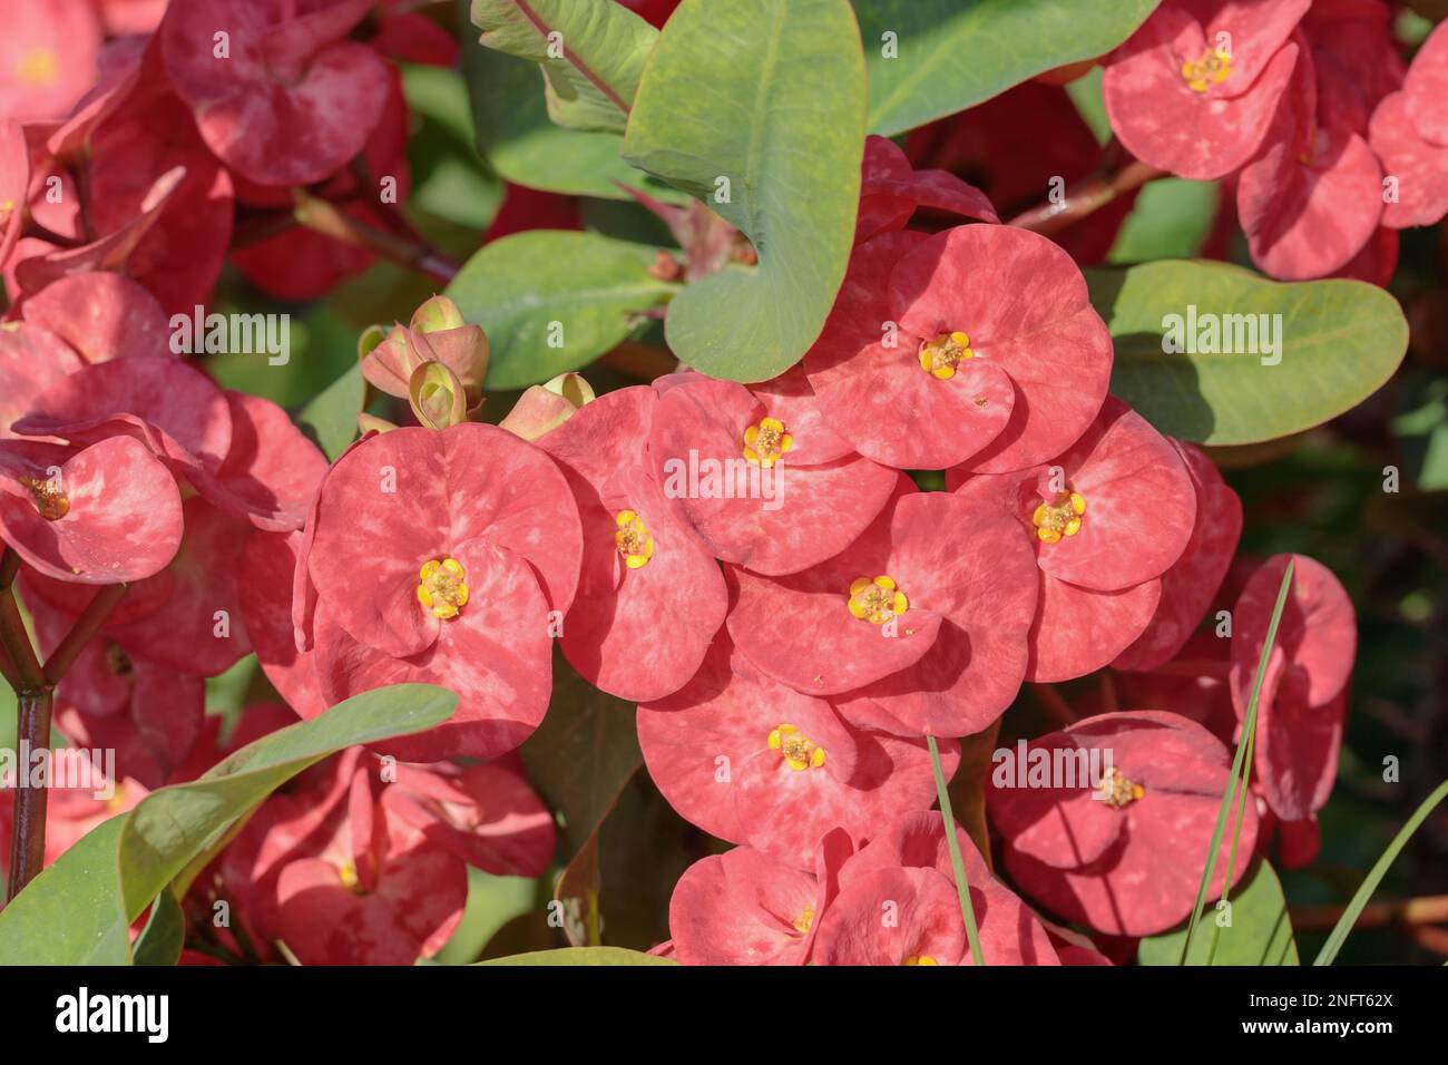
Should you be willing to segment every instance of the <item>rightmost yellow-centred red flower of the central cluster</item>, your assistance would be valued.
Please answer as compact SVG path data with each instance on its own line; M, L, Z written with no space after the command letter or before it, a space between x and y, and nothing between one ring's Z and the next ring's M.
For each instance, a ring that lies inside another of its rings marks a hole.
M976 509L1003 509L1027 530L1041 569L1027 680L1082 677L1147 627L1158 580L1186 549L1196 490L1180 452L1108 397L1086 433L1048 465L947 484Z

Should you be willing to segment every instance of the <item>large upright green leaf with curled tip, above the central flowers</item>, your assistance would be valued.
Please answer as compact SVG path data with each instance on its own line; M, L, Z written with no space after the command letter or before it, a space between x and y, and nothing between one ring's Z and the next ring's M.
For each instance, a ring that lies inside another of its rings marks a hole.
M683 0L644 67L624 158L704 200L759 254L757 268L675 297L665 335L683 362L763 381L814 343L850 256L863 151L847 0Z

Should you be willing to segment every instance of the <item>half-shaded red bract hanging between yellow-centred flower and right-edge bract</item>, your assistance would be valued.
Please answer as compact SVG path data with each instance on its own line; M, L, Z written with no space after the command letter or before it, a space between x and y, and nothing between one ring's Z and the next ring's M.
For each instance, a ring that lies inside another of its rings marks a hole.
M1293 39L1297 65L1261 154L1242 168L1237 213L1253 261L1273 277L1303 280L1341 270L1373 238L1383 175L1367 141L1322 110L1308 38Z

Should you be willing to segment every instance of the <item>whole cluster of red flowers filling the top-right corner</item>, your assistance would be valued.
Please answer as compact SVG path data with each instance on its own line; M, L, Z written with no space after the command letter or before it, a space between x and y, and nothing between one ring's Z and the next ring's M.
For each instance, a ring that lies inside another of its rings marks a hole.
M1273 277L1386 284L1397 230L1448 210L1448 32L1407 70L1380 0L1164 0L1103 65L1122 145L1225 180Z

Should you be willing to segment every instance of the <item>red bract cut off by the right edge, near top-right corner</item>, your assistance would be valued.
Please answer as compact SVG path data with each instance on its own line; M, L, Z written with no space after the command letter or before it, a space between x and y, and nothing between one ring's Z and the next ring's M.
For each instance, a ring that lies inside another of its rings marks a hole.
M1393 229L1431 226L1448 213L1448 26L1438 26L1407 68L1403 88L1373 112L1370 141L1394 178L1396 196L1383 207Z

